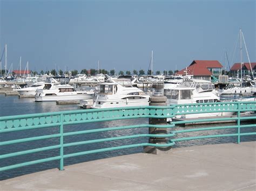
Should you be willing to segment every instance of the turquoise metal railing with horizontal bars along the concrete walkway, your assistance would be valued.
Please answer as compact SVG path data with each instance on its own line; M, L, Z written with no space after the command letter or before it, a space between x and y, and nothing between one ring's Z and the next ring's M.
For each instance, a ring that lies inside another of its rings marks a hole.
M76 111L62 111L62 112L49 112L43 114L30 114L30 115L18 115L18 116L6 116L0 117L0 135L3 136L4 133L11 133L16 131L39 129L39 128L50 128L50 127L59 127L59 132L53 135L44 135L37 137L29 137L22 139L6 140L2 141L0 139L0 146L33 142L35 140L44 140L50 138L59 138L59 144L33 148L31 150L18 151L13 153L7 153L0 155L0 159L6 159L10 157L17 157L19 155L37 153L42 151L49 151L58 148L59 155L55 157L49 157L44 159L33 160L29 162L21 162L19 164L9 165L0 167L0 172L8 169L23 167L32 164L38 164L41 162L48 162L53 160L59 160L59 169L63 170L64 168L64 159L75 157L79 155L99 153L105 151L120 150L123 148L131 147L140 147L140 146L154 146L154 147L167 147L173 146L176 142L181 142L185 140L193 139L205 139L205 138L215 138L215 137L237 137L237 142L240 143L241 136L250 136L256 135L256 132L246 132L241 133L241 128L255 128L256 124L241 125L241 121L249 121L256 119L255 116L242 117L241 112L245 111L256 111L256 102L223 102L223 103L195 103L195 104L182 104L182 105L172 105L169 107L154 107L154 106L145 106L145 107L125 107L125 108L108 108L108 109L92 109L92 110L76 110ZM230 118L230 116L225 117L223 114L228 114L228 112L236 113L237 116ZM138 125L127 125L127 126L118 126L111 128L99 128L99 129L90 129L82 131L72 131L65 132L64 128L66 125L75 125L83 123L93 123L93 122L105 122L105 121L114 121L120 119L136 119L136 118L173 118L173 117L186 117L189 118L191 115L197 114L207 114L215 113L219 115L219 118L197 118L197 119L188 119L186 121L172 121L170 124L166 125L152 125L152 124L138 124ZM196 128L196 129L184 129L184 130L173 130L177 124L185 123L199 123L199 122L212 122L212 121L236 121L237 125L230 126L215 126L210 128ZM170 133L153 135L153 134L138 134L138 135L126 135L118 137L108 137L102 139L94 140L85 140L82 142L72 142L65 143L64 138L73 135L85 135L88 133L100 133L104 131L117 131L124 129L134 129L134 128L170 128ZM199 137L181 137L176 138L179 133L186 132L196 132L196 131L208 131L208 130L218 130L218 129L237 129L237 133L224 134L224 135L207 135ZM130 145L120 145L114 147L98 148L90 151L79 151L76 153L64 153L65 147L76 146L76 145L86 145L86 144L96 144L103 142L110 142L113 140L122 140L122 139L132 139L132 138L142 138L142 137L164 137L169 138L169 142L166 144L152 144L152 143L138 143Z

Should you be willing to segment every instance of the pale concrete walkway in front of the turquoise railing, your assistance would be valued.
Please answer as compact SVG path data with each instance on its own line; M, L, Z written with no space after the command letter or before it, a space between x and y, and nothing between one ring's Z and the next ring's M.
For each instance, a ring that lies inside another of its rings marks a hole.
M0 181L0 190L256 190L256 142L131 154Z

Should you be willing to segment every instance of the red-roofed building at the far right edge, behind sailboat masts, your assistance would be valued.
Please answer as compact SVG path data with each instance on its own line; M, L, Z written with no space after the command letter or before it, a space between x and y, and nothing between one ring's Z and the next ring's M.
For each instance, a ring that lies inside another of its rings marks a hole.
M252 70L253 70L253 75L256 75L256 62L251 62ZM241 63L234 63L234 65L231 67L230 72L232 76L238 76L240 75L241 77ZM242 63L242 75L251 75L251 67L249 62L244 62Z

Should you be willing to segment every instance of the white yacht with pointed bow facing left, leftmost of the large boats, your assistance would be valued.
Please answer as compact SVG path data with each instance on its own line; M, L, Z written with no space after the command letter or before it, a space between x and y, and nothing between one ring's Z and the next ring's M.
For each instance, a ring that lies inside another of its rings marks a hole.
M45 82L33 83L30 87L15 89L15 91L18 91L20 96L36 96L37 89L55 89L57 85L59 85L59 82L49 77Z

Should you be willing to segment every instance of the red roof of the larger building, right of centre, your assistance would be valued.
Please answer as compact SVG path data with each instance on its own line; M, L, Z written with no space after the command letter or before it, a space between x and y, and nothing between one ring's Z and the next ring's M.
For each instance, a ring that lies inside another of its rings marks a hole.
M211 76L212 73L207 68L222 68L218 60L194 60L190 66L187 67L187 74L194 76ZM182 69L177 72L178 75L184 75L186 70Z

